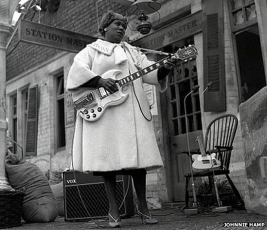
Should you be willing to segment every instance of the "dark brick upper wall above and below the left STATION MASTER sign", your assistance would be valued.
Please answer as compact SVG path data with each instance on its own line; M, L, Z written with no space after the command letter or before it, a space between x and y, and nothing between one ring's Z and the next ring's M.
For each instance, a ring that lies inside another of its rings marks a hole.
M109 9L125 14L125 6L109 0L79 0L79 4L76 1L61 1L57 12L50 13L46 10L41 13L41 23L85 35L95 35L97 33L96 2L98 2L99 20ZM32 16L33 10L29 11L25 19L31 20ZM38 22L38 19L39 15L36 13L32 21ZM18 43L16 34L7 50L7 81L60 52L61 50L53 48Z

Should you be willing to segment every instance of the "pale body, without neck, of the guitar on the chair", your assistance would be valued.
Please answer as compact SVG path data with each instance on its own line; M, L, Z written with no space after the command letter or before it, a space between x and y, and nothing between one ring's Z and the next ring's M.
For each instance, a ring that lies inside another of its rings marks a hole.
M192 155L192 160L194 161L192 164L194 170L217 169L221 167L221 162L216 158L216 153L206 156L194 154Z

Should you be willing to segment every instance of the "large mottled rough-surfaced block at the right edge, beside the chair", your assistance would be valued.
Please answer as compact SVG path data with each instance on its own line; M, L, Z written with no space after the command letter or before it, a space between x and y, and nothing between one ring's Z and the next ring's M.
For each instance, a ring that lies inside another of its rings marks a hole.
M267 216L267 87L240 104L240 124L244 149L249 212Z

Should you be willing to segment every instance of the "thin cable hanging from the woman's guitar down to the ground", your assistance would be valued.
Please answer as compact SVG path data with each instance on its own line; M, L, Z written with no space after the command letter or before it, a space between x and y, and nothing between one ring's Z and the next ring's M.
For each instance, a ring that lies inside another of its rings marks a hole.
M85 201L84 201L84 199L83 199L83 197L82 197L82 194L81 194L81 191L80 191L80 188L79 188L79 184L78 184L78 182L77 182L77 177L76 177L76 174L75 174L75 170L74 170L74 161L73 161L73 142L74 142L74 135L75 135L75 131L76 131L76 123L77 123L77 120L78 120L78 117L79 117L79 116L80 116L79 113L77 113L77 115L76 115L76 121L75 121L75 126L74 126L74 132L73 132L73 136L72 136L72 144L71 144L71 167L72 167L72 171L73 171L73 177L74 177L75 183L76 183L76 185L77 185L77 191L78 191L80 200L81 200L81 202L82 202L82 204L83 204L83 206L84 206L84 208L85 208L85 210L86 210L86 213L87 213L87 215L89 216L90 220L91 220L95 225L97 225L99 228L106 228L105 225L100 225L99 223L97 223L97 222L95 221L95 219L90 215L89 210L87 209L86 204L85 204ZM121 202L121 204L120 204L120 206L119 206L119 210L122 208L123 203L124 203L124 201L125 201L125 199L126 199L126 197L127 197L127 195L128 195L128 192L129 192L129 189L130 189L130 184L131 184L131 182L132 182L132 177L129 176L129 180L128 180L128 184L127 184L127 189L126 189L125 195L124 195L124 197L123 197L123 200L122 200L122 202ZM65 208L66 208L66 207L65 207ZM65 211L66 211L66 210L65 210Z

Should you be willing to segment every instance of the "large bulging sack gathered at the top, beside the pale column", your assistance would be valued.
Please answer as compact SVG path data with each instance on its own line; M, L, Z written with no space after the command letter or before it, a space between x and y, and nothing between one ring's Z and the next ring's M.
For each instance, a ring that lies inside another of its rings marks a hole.
M22 218L27 223L53 221L58 214L56 198L48 180L34 164L19 159L8 152L5 169L9 184L19 190L24 189Z

